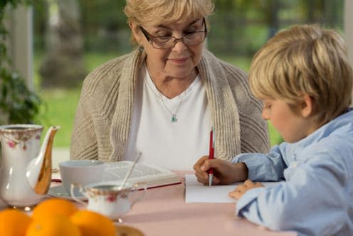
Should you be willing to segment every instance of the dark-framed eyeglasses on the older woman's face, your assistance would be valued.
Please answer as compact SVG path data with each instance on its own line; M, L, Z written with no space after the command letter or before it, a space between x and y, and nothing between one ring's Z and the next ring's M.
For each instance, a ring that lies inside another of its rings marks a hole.
M154 48L157 49L173 48L178 41L183 42L187 46L195 46L202 43L207 37L205 19L203 19L202 22L205 26L204 31L194 31L191 33L187 33L179 39L174 36L152 36L145 29L143 29L142 26L139 26L139 29L141 29L142 34L144 34L147 41L151 43Z

